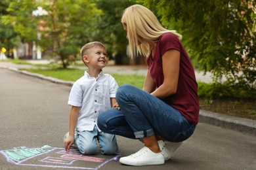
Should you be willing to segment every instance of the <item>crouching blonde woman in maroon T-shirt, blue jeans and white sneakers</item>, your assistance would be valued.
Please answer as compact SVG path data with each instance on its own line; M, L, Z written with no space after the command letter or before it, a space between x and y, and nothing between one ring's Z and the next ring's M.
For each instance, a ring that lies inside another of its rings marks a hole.
M100 114L98 127L106 133L143 141L142 149L120 158L120 163L160 165L169 160L198 124L196 76L181 35L163 28L146 7L128 7L121 23L127 32L131 57L146 56L148 72L143 90L129 85L118 88L118 109Z

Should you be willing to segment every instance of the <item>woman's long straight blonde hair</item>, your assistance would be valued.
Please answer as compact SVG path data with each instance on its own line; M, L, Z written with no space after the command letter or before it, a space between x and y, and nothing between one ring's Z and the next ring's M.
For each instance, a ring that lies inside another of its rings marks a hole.
M138 54L148 56L163 33L173 33L182 39L177 31L165 29L155 14L142 5L132 5L125 9L121 23L127 26L131 58Z

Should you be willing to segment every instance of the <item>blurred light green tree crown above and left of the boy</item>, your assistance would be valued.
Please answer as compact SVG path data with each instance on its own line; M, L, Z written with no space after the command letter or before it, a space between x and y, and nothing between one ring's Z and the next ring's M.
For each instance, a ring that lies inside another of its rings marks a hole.
M66 69L83 44L94 40L95 20L100 14L93 0L12 1L5 22L24 37L53 50L52 56Z

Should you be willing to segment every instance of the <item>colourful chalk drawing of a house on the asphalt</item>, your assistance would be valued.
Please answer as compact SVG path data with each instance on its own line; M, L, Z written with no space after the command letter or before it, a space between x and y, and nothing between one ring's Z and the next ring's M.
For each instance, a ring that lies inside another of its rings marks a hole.
M120 154L113 156L85 156L79 150L71 149L66 152L64 148L26 148L16 147L11 150L0 151L9 163L15 165L53 167L66 169L100 169L109 161L117 161Z

